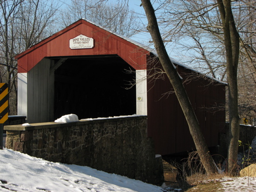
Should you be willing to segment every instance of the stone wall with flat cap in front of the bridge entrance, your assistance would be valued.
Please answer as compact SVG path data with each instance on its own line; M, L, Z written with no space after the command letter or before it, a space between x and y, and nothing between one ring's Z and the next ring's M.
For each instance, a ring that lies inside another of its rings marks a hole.
M90 166L161 185L161 157L147 138L146 116L72 123L8 125L6 147L48 161Z

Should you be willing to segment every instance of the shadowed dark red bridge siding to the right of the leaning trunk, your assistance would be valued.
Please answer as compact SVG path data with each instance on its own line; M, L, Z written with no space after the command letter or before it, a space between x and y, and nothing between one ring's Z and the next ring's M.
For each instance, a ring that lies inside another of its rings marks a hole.
M184 83L184 87L193 105L196 116L200 123L204 138L208 146L218 144L218 134L225 124L225 110L219 111L218 105L225 103L225 84L212 82L205 77L196 77L188 69L183 69L187 73L184 79L192 79L189 83ZM220 117L220 118L219 118Z

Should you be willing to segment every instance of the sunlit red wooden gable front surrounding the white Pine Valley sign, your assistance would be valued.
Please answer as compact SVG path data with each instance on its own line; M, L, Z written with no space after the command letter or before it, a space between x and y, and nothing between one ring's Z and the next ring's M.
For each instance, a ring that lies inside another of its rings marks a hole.
M70 49L69 40L80 34L92 37L94 48ZM44 57L115 54L123 58L136 70L146 69L146 54L148 54L148 51L142 48L139 49L132 42L81 19L17 55L16 58L18 59L18 72L26 73Z

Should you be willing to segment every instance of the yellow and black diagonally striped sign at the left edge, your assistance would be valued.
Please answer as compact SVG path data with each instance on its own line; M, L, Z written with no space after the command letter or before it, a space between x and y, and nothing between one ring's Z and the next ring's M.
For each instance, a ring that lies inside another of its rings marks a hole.
M0 123L8 120L8 84L0 83Z

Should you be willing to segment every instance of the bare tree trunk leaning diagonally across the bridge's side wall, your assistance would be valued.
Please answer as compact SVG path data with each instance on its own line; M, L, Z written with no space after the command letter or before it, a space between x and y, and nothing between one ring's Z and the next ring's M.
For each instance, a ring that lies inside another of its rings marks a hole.
M195 142L201 162L207 174L215 173L217 171L215 167L215 162L208 151L207 144L200 130L199 122L197 120L193 107L188 99L182 80L180 79L178 72L174 68L173 63L165 50L153 6L150 0L141 0L141 2L148 20L147 30L152 36L161 65L163 66L163 69L175 90L175 94L185 115L187 124L189 126L190 134Z

